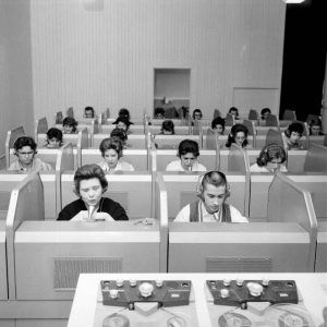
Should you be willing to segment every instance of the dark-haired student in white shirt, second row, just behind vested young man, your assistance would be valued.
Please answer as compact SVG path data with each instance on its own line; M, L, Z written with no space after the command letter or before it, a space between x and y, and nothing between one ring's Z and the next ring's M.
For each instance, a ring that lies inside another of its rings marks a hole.
M183 140L178 150L180 159L169 162L166 171L207 171L206 167L197 161L198 156L198 144L193 140Z

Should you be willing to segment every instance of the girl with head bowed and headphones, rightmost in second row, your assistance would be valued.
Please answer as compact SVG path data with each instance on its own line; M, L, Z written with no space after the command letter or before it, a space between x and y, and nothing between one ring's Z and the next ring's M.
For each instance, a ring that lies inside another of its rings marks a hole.
M256 164L250 167L252 172L287 172L287 168L283 165L286 162L287 155L284 149L275 143L266 145L259 153Z

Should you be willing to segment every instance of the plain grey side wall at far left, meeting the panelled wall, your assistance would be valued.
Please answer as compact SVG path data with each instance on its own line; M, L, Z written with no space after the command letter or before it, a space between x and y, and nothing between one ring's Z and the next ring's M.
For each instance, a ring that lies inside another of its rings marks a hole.
M0 0L0 156L7 131L33 132L33 83L28 0Z

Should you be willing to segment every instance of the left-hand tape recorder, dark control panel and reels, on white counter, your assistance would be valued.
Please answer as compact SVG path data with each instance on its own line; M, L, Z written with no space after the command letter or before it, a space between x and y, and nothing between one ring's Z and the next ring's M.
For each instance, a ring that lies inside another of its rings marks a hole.
M191 280L101 280L95 327L197 327Z

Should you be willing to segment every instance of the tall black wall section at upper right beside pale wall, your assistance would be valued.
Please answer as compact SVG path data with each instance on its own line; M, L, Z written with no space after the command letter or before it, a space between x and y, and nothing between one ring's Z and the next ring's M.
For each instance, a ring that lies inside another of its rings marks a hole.
M300 120L319 114L326 65L326 0L288 4L280 113L296 111ZM325 21L325 23L324 23Z

